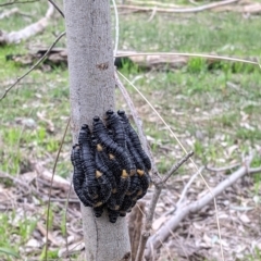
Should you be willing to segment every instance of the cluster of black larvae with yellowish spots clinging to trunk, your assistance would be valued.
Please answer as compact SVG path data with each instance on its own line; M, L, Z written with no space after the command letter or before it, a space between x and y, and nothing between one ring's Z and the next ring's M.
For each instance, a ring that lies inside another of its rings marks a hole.
M124 111L107 111L107 126L98 116L92 124L92 134L88 125L82 126L73 146L74 190L97 217L107 208L115 223L146 195L151 162Z

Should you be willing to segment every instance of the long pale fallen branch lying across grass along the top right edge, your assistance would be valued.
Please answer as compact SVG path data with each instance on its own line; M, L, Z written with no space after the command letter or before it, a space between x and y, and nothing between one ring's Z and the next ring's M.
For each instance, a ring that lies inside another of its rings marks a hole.
M214 9L214 8L217 8L217 7L235 3L235 2L238 2L238 1L239 0L225 0L225 1L214 2L214 3L208 3L208 4L204 4L204 5L200 5L200 7L183 8L183 9L157 8L157 11L162 12L162 13L198 13L198 12ZM120 5L117 5L117 8L119 9L130 9L130 10L135 10L135 11L140 11L140 12L148 12L148 11L153 10L153 7L136 7L136 5L126 5L126 4L120 4Z

